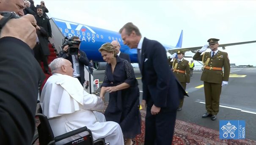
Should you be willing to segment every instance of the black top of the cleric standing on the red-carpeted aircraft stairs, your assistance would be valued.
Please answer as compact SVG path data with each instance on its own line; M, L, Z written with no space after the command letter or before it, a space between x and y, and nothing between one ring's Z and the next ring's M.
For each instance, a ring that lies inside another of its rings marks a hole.
M44 27L44 30L47 32L47 35L50 38L52 38L52 28L51 28L51 24L50 24L49 19L47 19L44 16L40 17L38 15L35 15L35 19L37 21L37 25L41 26L41 27Z

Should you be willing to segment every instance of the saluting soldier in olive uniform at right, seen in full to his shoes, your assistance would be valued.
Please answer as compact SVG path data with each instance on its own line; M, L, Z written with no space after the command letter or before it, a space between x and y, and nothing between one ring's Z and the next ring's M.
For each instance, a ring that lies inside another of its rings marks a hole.
M219 112L221 87L228 84L230 73L228 54L218 50L218 41L219 39L215 38L209 39L207 42L209 42L211 52L205 52L201 55L208 47L206 44L193 56L194 60L202 61L204 64L201 81L204 81L207 112L202 115L202 118L211 116L213 121L216 120L216 115Z

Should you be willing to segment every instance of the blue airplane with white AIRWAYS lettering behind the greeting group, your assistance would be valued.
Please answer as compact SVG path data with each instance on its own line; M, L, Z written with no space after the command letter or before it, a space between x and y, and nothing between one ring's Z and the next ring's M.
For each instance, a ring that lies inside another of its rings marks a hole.
M58 43L60 46L60 42L56 42L57 35L55 37L56 32L60 32L63 39L64 37L68 36L69 38L72 36L77 36L80 38L81 46L80 49L85 51L88 59L92 59L96 70L104 70L105 64L104 60L102 59L101 54L99 53L99 48L102 46L102 44L107 42L112 42L113 40L117 40L120 45L121 49L120 51L126 54L129 54L131 62L137 63L137 50L136 49L130 49L128 46L124 45L121 35L118 32L110 31L110 30L104 30L101 28L96 28L92 26L88 26L85 24L78 24L71 21L61 20L57 18L51 18L51 27L52 27L52 35L53 39L50 40L51 43ZM54 29L58 29L57 31ZM183 50L183 51L192 51L195 53L200 49L202 46L198 47L191 47L191 48L182 48L182 38L183 38L183 31L181 31L181 34L179 36L179 40L176 46L168 46L163 45L167 51L167 55L175 53L177 50ZM240 43L228 43L228 44L220 44L219 47L222 47L225 49L226 46L232 46L232 45L239 45L239 44L246 44L246 43L255 43L256 41L247 41L247 42L240 42ZM55 45L56 46L56 45ZM57 49L58 50L58 49ZM60 50L59 50L60 51Z

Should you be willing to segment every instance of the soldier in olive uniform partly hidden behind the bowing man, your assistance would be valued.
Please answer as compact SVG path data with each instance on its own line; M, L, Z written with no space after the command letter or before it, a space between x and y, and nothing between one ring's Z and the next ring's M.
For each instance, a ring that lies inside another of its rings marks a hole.
M172 66L172 70L178 81L181 83L184 90L186 90L187 83L190 83L190 67L189 62L185 60L184 51L178 51L178 59L173 60L169 64ZM171 58L170 58L171 59ZM177 111L182 110L184 98L180 99L179 107Z

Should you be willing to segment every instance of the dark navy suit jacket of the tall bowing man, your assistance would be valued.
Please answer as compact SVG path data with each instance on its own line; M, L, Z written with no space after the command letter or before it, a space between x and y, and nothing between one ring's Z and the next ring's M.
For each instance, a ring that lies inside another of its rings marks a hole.
M165 48L155 40L144 38L141 62L143 99L148 107L154 104L162 111L176 110L179 99L187 93L169 68Z

